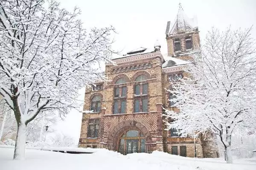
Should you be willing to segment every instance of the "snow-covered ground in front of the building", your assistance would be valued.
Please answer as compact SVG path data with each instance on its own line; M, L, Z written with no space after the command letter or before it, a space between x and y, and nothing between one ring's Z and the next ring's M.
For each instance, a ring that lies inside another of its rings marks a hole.
M154 151L127 156L99 149L91 154L69 154L26 150L26 159L13 161L13 148L0 148L0 170L256 170L256 157L235 159L194 159Z

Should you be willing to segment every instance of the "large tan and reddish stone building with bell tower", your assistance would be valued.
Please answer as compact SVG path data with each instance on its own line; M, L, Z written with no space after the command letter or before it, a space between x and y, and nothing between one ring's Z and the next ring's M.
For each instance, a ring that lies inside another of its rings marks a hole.
M85 92L79 147L107 148L122 154L163 150L188 157L218 157L214 136L181 138L175 129L166 131L163 109L173 107L165 88L186 73L192 53L199 50L199 31L195 19L189 19L180 6L173 23L166 27L168 54L160 44L154 49L137 48L106 64L111 81L96 82ZM171 80L171 81L170 81ZM196 153L196 154L195 154Z

